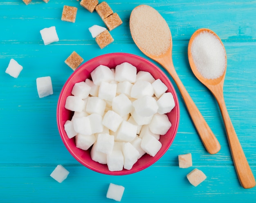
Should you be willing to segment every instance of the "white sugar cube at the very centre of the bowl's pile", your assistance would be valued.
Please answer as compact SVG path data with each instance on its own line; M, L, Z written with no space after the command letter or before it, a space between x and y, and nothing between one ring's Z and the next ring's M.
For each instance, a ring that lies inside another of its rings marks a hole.
M120 116L125 116L132 112L132 102L125 94L119 94L112 100L112 109Z

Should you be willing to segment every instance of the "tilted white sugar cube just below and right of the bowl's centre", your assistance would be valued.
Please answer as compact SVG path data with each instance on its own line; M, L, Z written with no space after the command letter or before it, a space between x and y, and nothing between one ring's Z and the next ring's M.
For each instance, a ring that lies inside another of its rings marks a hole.
M117 130L117 141L130 142L137 135L137 126L129 123L128 121L123 121Z

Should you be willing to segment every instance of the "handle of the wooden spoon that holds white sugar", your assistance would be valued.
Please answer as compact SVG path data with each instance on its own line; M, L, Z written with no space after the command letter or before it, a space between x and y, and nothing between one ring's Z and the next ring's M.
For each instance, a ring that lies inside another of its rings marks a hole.
M227 138L229 141L229 147L230 147L230 151L232 154L233 162L236 168L236 173L238 175L240 184L244 188L252 188L256 184L255 178L248 164L248 161L245 157L245 153L242 149L242 146L238 140L235 129L232 125L231 119L227 112L227 107L225 105L224 98L219 97L217 101L220 106L220 112L222 114L222 118L225 124Z

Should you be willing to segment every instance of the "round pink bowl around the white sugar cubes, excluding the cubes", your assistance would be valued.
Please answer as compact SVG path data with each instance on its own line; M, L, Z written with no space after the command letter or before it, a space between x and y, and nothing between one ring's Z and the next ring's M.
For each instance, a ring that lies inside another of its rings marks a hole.
M148 71L154 78L159 78L162 82L168 87L168 92L173 94L175 100L175 107L174 109L167 114L169 120L172 123L171 128L165 135L161 135L159 141L162 143L162 148L157 152L157 154L152 157L148 154L142 156L137 163L135 163L131 170L123 169L122 171L111 172L108 170L108 166L104 164L100 164L95 162L91 159L90 156L90 149L84 151L76 147L75 139L68 138L67 134L64 130L64 123L67 120L70 120L73 116L73 112L65 109L65 101L67 96L71 95L72 88L75 83L84 81L86 78L91 78L90 73L99 65L106 65L110 68L115 68L116 65L121 64L122 62L129 62L130 64L137 67L138 71ZM68 151L77 161L79 161L84 166L88 167L91 170L102 174L109 174L109 175L126 175L132 174L135 172L139 172L153 163L155 163L159 158L161 158L164 153L169 149L171 146L175 135L177 133L178 125L180 120L180 108L179 102L177 98L177 94L173 85L171 84L168 77L163 73L161 69L159 69L156 65L152 62L141 58L140 56L126 54L126 53L112 53L112 54L104 54L102 56L95 57L83 65L81 65L78 69L74 71L74 73L67 79L67 82L64 84L57 104L57 125L58 130L61 135L61 139L65 146L67 147Z

